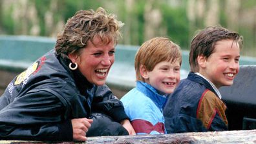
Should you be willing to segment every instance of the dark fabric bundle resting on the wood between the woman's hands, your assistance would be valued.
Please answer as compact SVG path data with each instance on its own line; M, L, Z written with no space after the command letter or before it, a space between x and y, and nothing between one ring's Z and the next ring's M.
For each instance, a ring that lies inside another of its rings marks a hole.
M93 113L91 118L93 119L93 123L86 133L86 136L124 136L129 135L127 130L112 120L111 117L100 114Z

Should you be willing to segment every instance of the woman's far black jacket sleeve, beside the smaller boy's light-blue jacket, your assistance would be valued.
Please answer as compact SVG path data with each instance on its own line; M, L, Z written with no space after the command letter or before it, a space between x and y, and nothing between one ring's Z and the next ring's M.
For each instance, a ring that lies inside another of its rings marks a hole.
M112 94L107 85L96 88L92 100L92 112L103 112L117 122L129 119L125 114L122 102Z

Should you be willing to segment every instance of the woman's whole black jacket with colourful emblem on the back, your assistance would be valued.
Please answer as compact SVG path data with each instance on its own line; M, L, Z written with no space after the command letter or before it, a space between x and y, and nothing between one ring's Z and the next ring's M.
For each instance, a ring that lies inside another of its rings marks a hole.
M92 85L68 64L51 50L12 80L0 97L0 139L72 141L73 118L129 119L106 85Z

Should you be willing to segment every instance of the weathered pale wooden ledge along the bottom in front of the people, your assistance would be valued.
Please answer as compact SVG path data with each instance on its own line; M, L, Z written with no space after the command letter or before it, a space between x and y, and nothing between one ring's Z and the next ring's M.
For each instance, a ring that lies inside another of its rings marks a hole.
M0 144L44 144L44 143L59 143L70 144L74 142L60 142L60 141L0 141ZM256 143L256 130L232 130L223 132L187 132L182 134L162 134L162 135L141 135L141 136L100 136L91 137L87 141L81 142L84 144L91 143L115 143L115 144L141 144L141 143ZM74 143L75 144L75 143Z

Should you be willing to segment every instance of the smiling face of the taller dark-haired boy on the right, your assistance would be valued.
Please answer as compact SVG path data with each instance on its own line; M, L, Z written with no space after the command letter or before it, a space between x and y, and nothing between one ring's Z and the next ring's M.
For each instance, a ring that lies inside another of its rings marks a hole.
M240 48L235 41L217 41L215 50L206 59L198 56L199 73L208 78L217 88L230 86L239 72Z

